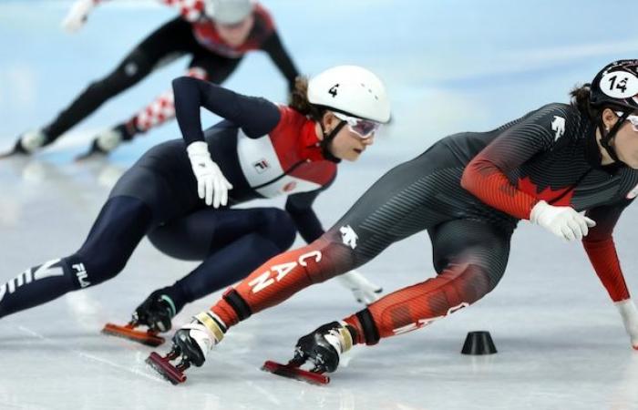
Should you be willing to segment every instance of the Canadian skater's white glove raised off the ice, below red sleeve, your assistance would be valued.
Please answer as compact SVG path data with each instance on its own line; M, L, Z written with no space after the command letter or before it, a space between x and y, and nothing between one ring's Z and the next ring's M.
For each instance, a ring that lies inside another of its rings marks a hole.
M541 200L531 209L530 221L567 241L581 240L596 222L571 207L555 207Z

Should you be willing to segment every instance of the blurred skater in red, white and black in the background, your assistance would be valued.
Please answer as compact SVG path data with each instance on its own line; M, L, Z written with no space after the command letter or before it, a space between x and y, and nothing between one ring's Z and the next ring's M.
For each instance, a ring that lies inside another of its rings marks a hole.
M77 31L84 26L93 8L107 0L77 0L63 26ZM98 109L109 98L133 87L153 70L180 56L190 56L186 76L221 84L239 66L242 57L263 50L272 58L293 90L299 75L291 56L283 47L273 17L252 0L159 0L176 7L180 16L170 20L135 46L106 77L91 83L51 123L26 131L14 149L0 158L28 155L53 143ZM98 134L88 152L79 157L107 154L123 141L164 124L175 117L171 90L162 93L131 118Z

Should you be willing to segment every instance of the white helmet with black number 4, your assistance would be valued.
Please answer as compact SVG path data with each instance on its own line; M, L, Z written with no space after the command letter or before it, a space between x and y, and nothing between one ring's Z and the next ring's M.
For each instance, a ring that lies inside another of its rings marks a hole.
M390 119L386 87L364 67L332 67L311 78L308 101L357 118L380 123Z

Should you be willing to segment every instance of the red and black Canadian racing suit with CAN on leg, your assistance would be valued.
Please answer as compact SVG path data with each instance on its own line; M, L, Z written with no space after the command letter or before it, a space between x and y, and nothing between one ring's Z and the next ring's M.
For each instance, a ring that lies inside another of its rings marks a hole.
M626 299L612 230L638 193L638 170L602 167L594 132L577 108L550 104L493 131L443 138L377 180L320 239L266 262L211 310L232 325L427 231L437 276L346 319L358 343L377 343L494 289L518 220L529 219L539 200L586 210L597 222L585 250L612 299Z

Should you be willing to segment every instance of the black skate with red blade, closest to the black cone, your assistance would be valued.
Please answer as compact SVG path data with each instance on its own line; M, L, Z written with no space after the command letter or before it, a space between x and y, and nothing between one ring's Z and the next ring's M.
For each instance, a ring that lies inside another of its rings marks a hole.
M288 364L268 361L263 364L262 370L307 383L327 384L330 378L324 373L336 370L341 354L352 348L355 336L355 328L346 323L324 324L313 333L299 339L294 349L293 360ZM306 362L313 365L310 371L300 368Z

